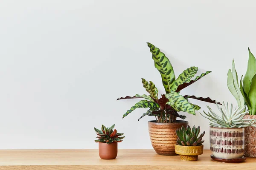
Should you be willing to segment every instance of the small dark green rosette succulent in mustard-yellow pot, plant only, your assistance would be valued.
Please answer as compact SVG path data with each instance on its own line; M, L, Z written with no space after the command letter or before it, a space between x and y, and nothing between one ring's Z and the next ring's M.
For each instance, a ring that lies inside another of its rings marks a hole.
M204 141L202 141L202 138L205 131L201 133L200 136L198 136L199 133L200 126L198 126L198 128L195 128L195 126L193 126L192 129L189 125L186 128L182 126L180 129L176 130L177 144L183 146L200 146L204 143Z

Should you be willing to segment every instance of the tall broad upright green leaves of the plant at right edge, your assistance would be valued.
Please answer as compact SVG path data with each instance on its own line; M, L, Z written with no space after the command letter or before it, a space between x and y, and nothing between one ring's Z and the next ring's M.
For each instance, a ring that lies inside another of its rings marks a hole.
M238 82L235 62L232 62L232 69L227 73L227 86L233 96L236 98L239 107L247 106L250 115L256 115L256 59L249 51L249 59L247 71L241 76L240 83ZM244 108L245 111L245 108Z

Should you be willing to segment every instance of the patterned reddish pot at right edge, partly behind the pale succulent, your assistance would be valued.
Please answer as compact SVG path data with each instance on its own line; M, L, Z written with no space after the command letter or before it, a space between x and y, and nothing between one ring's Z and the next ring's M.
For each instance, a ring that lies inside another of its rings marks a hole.
M256 119L256 115L246 114L244 119ZM247 157L256 158L256 127L245 127L245 152Z

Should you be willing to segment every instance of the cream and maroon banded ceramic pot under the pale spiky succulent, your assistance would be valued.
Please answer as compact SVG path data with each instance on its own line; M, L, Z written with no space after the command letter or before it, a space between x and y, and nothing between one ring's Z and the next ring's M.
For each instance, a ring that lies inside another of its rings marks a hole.
M244 154L244 127L210 127L210 149L218 158L241 158Z

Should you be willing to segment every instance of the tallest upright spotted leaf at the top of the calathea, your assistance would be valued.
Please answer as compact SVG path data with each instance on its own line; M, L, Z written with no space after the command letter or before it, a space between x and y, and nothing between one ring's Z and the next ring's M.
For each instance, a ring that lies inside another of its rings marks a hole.
M154 66L160 72L162 77L163 86L166 93L170 93L171 87L175 81L175 74L172 68L172 64L169 59L163 54L159 48L156 48L151 43L148 43L152 58L154 59Z

